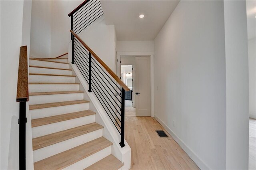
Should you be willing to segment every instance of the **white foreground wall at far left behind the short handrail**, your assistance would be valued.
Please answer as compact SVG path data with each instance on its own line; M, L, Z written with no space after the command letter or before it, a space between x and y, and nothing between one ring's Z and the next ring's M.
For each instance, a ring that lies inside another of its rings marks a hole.
M20 46L30 44L31 1L1 6L1 169L18 169L19 103L16 103ZM24 12L26 11L26 12ZM8 74L7 74L8 73ZM10 76L12 75L12 76ZM31 165L31 164L30 164ZM29 166L27 166L29 168ZM30 166L31 167L31 166Z

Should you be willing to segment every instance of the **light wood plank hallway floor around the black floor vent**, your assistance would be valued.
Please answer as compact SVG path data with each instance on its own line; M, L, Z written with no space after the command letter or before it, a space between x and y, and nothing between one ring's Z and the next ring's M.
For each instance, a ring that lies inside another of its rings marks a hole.
M169 134L159 138L155 130L164 129L152 117L125 118L125 139L132 149L131 170L199 169Z

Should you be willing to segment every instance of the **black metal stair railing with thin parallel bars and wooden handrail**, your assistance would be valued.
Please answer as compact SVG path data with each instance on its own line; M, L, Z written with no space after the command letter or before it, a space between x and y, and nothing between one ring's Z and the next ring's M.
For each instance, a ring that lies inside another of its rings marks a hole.
M124 147L124 95L129 88L88 47L77 34L103 15L100 1L84 1L71 16L72 64L75 64L88 83L104 111L121 135Z

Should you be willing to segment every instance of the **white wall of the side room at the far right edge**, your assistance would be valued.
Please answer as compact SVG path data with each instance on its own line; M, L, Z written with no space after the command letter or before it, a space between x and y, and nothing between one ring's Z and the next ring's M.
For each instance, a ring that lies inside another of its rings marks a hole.
M248 40L249 113L256 119L256 38Z

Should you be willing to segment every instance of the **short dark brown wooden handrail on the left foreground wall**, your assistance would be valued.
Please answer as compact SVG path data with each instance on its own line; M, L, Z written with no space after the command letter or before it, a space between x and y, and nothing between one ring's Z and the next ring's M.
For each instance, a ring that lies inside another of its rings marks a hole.
M20 59L17 83L17 102L28 101L28 53L27 46L20 47Z

